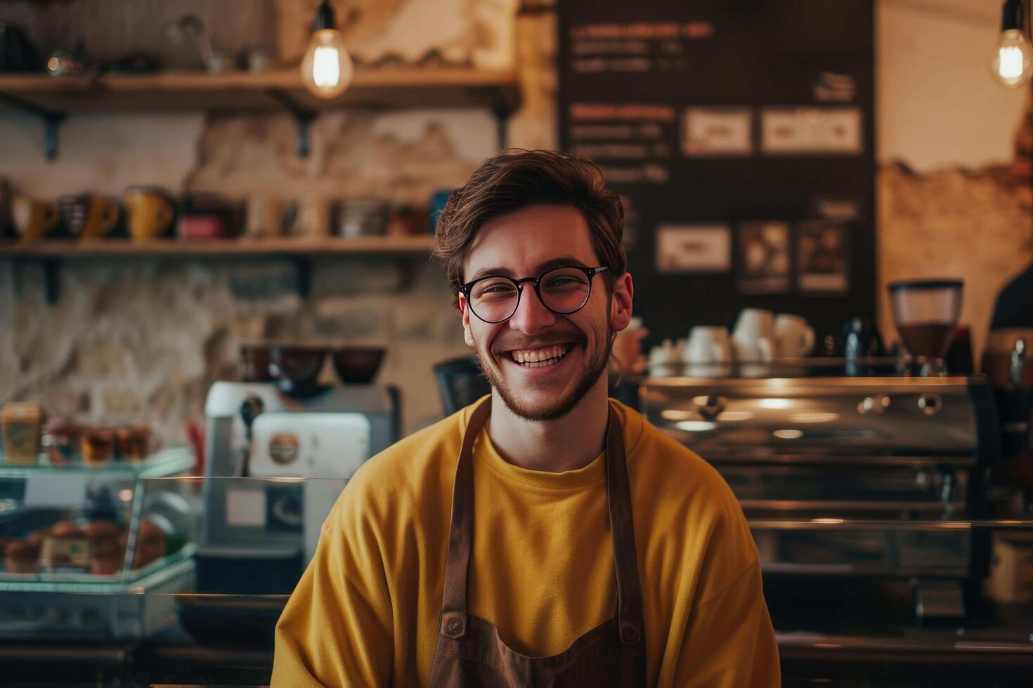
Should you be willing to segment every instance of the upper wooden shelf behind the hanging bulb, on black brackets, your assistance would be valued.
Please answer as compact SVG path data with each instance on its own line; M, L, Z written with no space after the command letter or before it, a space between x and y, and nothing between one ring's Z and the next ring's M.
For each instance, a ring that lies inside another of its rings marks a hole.
M512 111L520 104L520 88L512 70L459 67L356 67L348 90L331 99L306 91L296 68L224 74L171 71L99 76L0 75L0 93L60 112L282 108L271 91L285 93L301 107L317 111L343 106L492 107Z

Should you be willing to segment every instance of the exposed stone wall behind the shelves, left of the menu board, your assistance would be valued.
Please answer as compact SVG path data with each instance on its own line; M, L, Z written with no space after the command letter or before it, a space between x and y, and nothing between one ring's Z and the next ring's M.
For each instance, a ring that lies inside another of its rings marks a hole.
M77 33L96 57L146 45L163 52L167 64L191 66L182 56L183 62L176 61L154 25L193 11L213 27L217 47L275 46L284 61L296 60L316 0L244 2L242 7L228 1L147 0L127 9L122 3L81 0L15 2L4 9L9 9L5 18L40 36L44 51ZM388 53L412 60L437 48L448 59L483 67L512 64L511 0L335 4L359 60ZM249 36L214 30L231 26L244 11L265 18L260 31L251 27L257 33ZM61 12L69 30L46 29L46 18ZM550 19L530 20L541 21ZM540 31L528 23L520 23L522 31ZM137 24L146 30L134 31ZM144 40L133 43L137 35ZM111 50L94 51L108 36ZM540 36L532 40L540 41ZM549 60L529 60L522 73ZM528 106L511 120L510 142L549 145L551 81L526 78ZM426 205L434 190L460 184L497 150L495 121L477 109L325 113L311 127L307 159L294 153L294 133L285 114L73 116L62 129L61 155L46 163L38 124L5 114L0 139L10 144L0 175L19 192L41 197L86 190L120 195L129 185L150 183L177 194L218 192L240 199L315 194L327 202L377 196ZM29 398L54 414L144 417L170 439L182 439L185 422L202 418L212 382L237 374L242 341L315 338L388 346L378 382L401 388L407 432L440 417L432 364L469 352L444 271L427 256L318 260L308 299L295 294L293 265L275 260L90 260L67 263L61 280L60 302L48 305L41 270L0 261L0 402ZM328 365L323 375L333 380Z

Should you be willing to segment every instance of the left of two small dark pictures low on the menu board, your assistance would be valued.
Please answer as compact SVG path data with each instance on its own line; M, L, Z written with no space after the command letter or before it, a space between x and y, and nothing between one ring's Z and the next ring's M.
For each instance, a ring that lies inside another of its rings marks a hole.
M739 292L780 294L790 289L789 225L744 222L739 226Z

